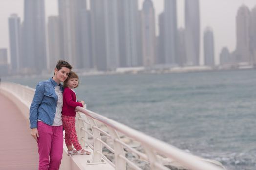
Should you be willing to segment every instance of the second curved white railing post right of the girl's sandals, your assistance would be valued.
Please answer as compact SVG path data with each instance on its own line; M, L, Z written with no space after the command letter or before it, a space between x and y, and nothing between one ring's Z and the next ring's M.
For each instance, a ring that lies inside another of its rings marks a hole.
M116 142L116 139L120 140L119 135L117 134L116 130L107 126L108 132L113 138L114 141L114 149L115 149L115 170L126 170L126 161L120 157L120 155L125 156L123 145Z

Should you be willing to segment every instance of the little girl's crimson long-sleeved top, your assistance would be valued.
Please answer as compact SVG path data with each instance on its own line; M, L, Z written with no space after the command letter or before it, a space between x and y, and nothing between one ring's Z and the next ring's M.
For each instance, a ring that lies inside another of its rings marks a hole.
M76 116L76 106L83 107L82 103L76 102L76 94L66 87L63 92L62 114L66 116Z

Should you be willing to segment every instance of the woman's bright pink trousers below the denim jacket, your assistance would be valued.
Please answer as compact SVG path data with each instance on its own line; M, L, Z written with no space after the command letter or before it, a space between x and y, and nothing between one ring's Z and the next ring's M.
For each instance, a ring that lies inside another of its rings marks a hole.
M63 127L37 122L38 170L59 170L63 152Z

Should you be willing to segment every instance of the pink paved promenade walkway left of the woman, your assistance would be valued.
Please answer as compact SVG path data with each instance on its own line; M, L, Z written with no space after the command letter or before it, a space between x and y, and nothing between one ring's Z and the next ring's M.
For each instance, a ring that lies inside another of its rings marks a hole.
M0 94L0 170L37 170L36 141L19 109Z

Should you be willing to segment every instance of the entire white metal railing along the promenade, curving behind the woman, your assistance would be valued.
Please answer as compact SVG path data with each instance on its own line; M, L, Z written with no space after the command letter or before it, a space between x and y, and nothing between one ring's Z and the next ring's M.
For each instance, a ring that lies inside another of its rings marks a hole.
M30 106L35 91L32 88L14 83L2 83L1 89L11 92L26 102L28 106ZM77 107L77 111L79 113L76 117L76 129L79 141L83 147L88 145L93 150L92 159L87 160L88 165L103 164L106 161L115 170L126 170L127 164L134 170L142 170L133 160L127 158L127 153L132 153L137 155L138 159L149 162L150 170L170 170L164 166L161 159L163 157L170 161L176 161L190 170L225 170L221 164L217 166L209 163L85 108ZM138 150L129 146L120 139L120 134L139 142L142 149ZM105 137L104 140L102 139L103 136ZM103 149L107 149L114 155L113 160L108 159L103 154Z

